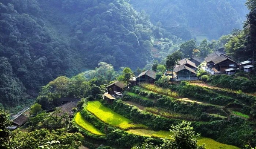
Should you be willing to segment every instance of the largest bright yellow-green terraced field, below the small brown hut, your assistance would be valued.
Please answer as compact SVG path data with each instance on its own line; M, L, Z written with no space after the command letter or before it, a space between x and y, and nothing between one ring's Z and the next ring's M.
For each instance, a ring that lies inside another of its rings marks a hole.
M139 129L148 127L142 124L134 124L128 118L113 112L111 109L105 107L99 101L90 101L87 103L86 110L95 115L99 120L112 126L116 126L120 129Z

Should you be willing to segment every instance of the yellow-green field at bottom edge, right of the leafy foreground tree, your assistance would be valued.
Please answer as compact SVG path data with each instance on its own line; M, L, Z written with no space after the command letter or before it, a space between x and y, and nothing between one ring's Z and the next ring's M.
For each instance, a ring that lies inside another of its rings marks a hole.
M240 149L236 146L219 143L210 138L201 138L198 140L198 145L203 145L203 143L205 144L205 149Z

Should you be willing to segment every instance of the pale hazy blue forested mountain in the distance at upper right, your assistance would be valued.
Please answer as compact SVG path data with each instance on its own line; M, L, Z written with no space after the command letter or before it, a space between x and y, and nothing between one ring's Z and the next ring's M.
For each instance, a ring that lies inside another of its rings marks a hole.
M158 21L178 37L189 40L188 32L216 39L242 28L248 13L246 0L131 0L137 11L144 10L152 23ZM187 29L187 31L186 31Z

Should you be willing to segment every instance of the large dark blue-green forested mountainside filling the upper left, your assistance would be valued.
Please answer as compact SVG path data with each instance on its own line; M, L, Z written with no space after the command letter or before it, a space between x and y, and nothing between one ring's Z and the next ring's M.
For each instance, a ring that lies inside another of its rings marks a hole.
M23 90L99 62L143 67L154 29L124 0L2 0L0 103L14 106Z

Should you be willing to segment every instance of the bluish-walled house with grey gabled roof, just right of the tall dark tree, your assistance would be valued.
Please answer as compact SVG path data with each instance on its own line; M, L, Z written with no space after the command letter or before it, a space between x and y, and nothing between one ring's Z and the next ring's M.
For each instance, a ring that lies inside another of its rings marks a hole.
M185 65L180 65L174 69L174 72L176 73L177 80L197 80L198 77L196 77L196 72L194 69L189 68Z

